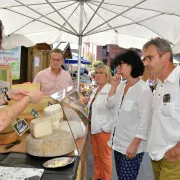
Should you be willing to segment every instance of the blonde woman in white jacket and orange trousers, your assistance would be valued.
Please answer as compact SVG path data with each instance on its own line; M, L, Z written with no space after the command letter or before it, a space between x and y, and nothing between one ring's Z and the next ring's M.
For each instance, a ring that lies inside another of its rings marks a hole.
M96 67L95 80L98 87L93 90L90 98L84 99L84 102L88 103L91 146L94 156L93 180L110 180L112 176L112 154L107 142L112 130L113 110L107 107L107 97L111 89L109 67L106 65Z

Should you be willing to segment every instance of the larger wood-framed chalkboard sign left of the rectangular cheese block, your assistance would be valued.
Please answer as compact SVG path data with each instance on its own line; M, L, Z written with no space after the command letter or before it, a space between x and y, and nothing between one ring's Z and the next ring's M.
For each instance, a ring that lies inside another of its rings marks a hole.
M18 121L16 121L12 127L14 128L14 130L16 131L16 133L21 136L22 134L24 134L28 129L29 129L29 125L27 124L27 122L25 121L25 119L21 118Z

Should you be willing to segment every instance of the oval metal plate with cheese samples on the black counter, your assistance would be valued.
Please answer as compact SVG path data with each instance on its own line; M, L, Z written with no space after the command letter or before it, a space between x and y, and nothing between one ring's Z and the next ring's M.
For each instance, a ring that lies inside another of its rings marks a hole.
M74 158L71 157L60 157L46 161L43 166L45 168L59 168L64 167L74 162Z

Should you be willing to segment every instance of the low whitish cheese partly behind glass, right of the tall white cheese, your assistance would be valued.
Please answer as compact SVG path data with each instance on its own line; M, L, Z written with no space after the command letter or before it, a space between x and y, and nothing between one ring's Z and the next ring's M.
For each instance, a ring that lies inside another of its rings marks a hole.
M70 129L71 128L71 129ZM83 137L85 134L85 126L82 122L78 121L64 121L60 122L59 129L73 133L75 139Z

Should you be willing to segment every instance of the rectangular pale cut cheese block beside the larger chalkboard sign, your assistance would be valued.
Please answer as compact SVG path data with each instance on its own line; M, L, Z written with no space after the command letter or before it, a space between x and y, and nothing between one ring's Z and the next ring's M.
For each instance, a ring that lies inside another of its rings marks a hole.
M35 138L40 138L53 133L51 117L41 117L31 121L30 132Z

